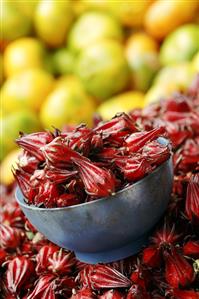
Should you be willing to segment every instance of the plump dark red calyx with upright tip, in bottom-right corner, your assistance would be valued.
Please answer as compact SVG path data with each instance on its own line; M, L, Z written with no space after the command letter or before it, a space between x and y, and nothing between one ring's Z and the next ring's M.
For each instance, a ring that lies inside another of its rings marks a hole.
M165 278L174 288L190 285L195 278L193 267L172 247L170 252L164 252Z

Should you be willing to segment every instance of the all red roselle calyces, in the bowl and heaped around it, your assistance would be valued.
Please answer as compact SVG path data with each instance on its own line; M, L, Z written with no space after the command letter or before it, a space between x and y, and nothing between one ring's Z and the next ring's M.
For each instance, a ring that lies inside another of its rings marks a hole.
M168 148L157 143L163 128L174 153L171 200L148 246L124 260L97 265L78 261L37 232L14 191L2 188L2 298L199 298L199 77L186 94L121 114L92 130L81 126L53 135L22 135L17 142L25 151L14 173L28 203L37 206L108 196L168 158Z

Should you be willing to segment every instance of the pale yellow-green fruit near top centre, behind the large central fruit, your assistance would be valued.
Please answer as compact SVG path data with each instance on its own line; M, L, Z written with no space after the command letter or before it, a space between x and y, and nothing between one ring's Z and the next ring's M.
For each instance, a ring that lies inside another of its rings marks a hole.
M73 25L68 43L73 51L80 51L104 38L122 39L122 29L114 17L103 12L84 13Z

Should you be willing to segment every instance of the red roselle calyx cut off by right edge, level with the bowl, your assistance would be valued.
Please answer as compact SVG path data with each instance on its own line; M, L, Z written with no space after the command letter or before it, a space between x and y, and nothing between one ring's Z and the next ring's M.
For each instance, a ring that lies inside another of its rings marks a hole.
M199 173L192 175L187 187L185 212L187 217L199 223Z

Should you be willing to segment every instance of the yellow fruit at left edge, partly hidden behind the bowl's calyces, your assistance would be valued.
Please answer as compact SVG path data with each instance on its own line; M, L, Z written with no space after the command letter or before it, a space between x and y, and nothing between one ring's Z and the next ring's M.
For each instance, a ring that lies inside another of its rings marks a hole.
M10 185L14 182L12 167L17 166L18 156L22 152L21 149L14 149L6 155L0 165L0 183Z

